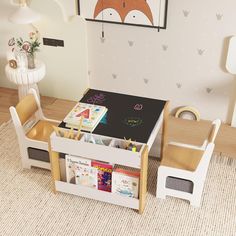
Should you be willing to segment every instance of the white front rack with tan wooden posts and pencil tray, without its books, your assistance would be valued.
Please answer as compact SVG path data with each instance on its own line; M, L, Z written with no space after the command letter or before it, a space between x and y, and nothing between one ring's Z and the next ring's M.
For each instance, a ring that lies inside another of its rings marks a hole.
M86 198L133 208L141 214L145 208L147 195L148 146L134 144L136 152L122 148L124 140L97 135L105 145L86 142L86 133L81 133L79 140L58 137L55 132L50 139L50 158L55 192L65 192ZM96 136L96 135L94 135ZM117 148L119 145L120 148ZM140 170L139 198L121 196L116 193L92 189L82 185L67 183L62 180L59 153L79 156L91 160L104 161Z

